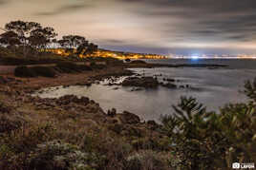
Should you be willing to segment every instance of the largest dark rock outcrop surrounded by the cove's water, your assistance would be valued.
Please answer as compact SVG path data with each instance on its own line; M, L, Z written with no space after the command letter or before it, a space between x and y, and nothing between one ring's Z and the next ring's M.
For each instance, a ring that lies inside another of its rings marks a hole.
M145 88L156 88L159 85L158 80L153 77L128 77L122 84L123 86L141 86Z

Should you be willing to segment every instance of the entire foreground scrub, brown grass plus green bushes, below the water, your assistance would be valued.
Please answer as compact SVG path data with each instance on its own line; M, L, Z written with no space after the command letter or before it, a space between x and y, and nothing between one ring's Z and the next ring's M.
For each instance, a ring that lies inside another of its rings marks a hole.
M88 98L32 98L12 86L20 82L3 80L0 169L228 169L256 161L255 81L245 84L245 104L214 113L181 98L160 125L104 113Z

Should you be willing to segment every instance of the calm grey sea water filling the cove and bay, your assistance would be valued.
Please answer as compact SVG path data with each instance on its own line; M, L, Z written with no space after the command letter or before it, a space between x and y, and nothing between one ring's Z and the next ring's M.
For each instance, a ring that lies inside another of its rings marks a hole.
M135 72L146 76L162 74L163 78L179 80L177 85L191 85L193 89L142 89L132 91L133 87L108 86L102 82L100 85L70 86L67 88L48 88L39 95L43 98L60 97L66 94L87 96L103 109L112 107L117 111L128 110L136 113L142 120L158 121L161 114L171 114L172 105L178 104L181 96L196 97L199 102L205 104L208 110L218 110L227 103L245 102L242 92L245 80L256 77L256 60L150 60L154 63L207 63L229 65L227 68L133 68Z

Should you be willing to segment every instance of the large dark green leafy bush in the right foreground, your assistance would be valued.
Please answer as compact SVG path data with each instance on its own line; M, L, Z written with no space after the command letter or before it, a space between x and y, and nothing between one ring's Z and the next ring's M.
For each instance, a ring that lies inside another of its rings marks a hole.
M232 162L256 159L256 83L245 84L249 104L228 104L207 112L194 98L181 97L173 115L163 116L162 130L173 142L181 169L227 168Z

